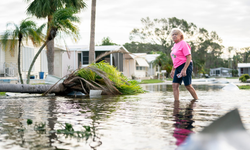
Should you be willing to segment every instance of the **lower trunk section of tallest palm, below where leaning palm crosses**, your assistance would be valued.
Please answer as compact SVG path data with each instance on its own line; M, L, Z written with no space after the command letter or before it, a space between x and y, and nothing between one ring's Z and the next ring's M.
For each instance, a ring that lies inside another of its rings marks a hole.
M48 74L54 75L54 39L47 44Z

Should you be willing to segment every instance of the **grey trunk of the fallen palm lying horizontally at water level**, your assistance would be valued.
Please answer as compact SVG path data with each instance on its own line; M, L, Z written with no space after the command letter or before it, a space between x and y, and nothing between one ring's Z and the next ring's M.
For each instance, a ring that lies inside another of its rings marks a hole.
M0 84L0 92L16 93L44 93L53 85L29 85L29 84ZM65 87L62 83L56 84L51 93L64 93Z

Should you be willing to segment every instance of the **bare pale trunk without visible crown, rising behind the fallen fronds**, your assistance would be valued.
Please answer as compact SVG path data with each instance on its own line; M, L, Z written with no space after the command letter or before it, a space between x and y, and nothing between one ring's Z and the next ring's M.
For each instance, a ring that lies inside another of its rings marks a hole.
M96 0L92 0L89 64L95 61L95 14L96 14Z

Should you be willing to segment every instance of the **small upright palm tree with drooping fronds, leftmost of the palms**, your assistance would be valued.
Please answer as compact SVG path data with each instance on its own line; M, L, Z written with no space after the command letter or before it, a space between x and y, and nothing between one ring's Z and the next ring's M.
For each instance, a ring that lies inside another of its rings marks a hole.
M18 74L21 83L23 84L22 73L21 73L21 65L20 65L20 54L21 54L21 45L22 41L30 39L34 45L40 44L41 38L40 33L37 32L36 23L25 19L22 20L20 26L15 23L8 23L7 27L13 26L13 30L6 30L3 37L1 38L2 46L4 50L10 49L11 55L13 56L14 49L18 44L18 58L17 58L17 66L18 66Z

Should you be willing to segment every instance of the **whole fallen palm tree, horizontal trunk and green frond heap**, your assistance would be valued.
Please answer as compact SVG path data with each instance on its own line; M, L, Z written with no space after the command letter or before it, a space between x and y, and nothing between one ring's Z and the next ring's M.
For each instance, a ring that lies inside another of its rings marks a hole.
M48 93L66 95L72 91L89 95L90 90L102 90L103 95L144 92L136 81L128 81L115 67L103 61L76 70L62 83L54 85L0 84L0 92L43 93L43 95Z

